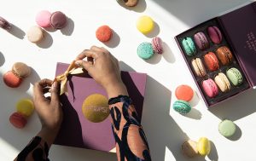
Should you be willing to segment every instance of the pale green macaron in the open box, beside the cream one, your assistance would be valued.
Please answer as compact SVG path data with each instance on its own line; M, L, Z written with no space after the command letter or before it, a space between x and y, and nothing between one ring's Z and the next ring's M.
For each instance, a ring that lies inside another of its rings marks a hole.
M236 69L235 67L232 67L227 71L227 76L230 79L230 82L233 83L233 85L235 85L235 86L243 83L243 78L241 76L241 72L238 69Z

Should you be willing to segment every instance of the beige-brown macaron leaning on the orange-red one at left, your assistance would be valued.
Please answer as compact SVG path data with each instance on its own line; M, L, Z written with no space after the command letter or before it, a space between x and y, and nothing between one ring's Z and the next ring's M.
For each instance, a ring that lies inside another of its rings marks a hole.
M12 72L19 78L26 78L31 74L31 68L25 63L16 62L12 67Z

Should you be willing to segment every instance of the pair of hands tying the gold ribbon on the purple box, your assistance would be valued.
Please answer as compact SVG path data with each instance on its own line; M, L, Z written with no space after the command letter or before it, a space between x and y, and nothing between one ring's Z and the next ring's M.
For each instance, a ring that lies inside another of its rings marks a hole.
M108 93L108 98L128 95L120 77L119 62L107 49L96 46L85 49L77 56L75 63L77 66L83 67L97 83L102 85ZM48 91L51 93L50 98L44 96ZM53 83L49 79L43 79L35 83L33 92L35 109L42 124L42 129L38 135L51 145L61 127L63 116L59 100L60 84Z

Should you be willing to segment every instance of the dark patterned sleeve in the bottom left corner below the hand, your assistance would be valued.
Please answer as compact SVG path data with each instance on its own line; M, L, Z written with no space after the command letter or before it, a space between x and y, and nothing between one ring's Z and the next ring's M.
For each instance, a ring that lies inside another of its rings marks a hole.
M35 136L19 153L15 161L49 161L49 146L41 137Z

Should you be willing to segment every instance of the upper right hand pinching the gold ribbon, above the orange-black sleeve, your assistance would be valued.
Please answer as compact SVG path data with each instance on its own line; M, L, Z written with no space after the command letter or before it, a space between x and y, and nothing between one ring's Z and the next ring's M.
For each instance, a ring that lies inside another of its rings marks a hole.
M87 57L87 60L84 58ZM92 46L76 58L76 65L83 67L108 93L108 98L128 95L122 82L119 62L107 49Z

